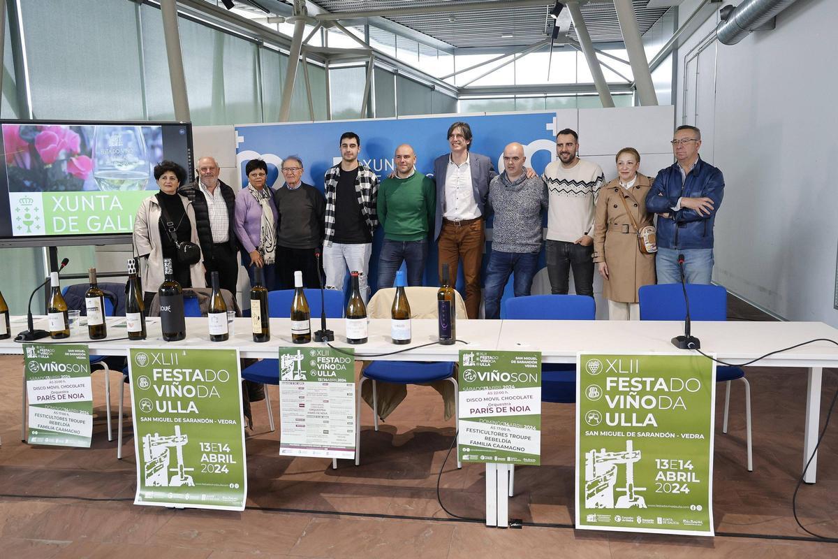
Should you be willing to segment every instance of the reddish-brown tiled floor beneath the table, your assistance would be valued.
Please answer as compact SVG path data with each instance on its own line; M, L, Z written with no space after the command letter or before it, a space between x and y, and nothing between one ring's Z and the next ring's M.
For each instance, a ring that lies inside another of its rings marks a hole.
M759 318L732 301L732 316ZM30 447L20 442L18 357L0 357L0 494L65 495L103 499L0 497L3 557L826 557L838 544L766 538L636 536L525 526L495 530L447 519L437 502L437 474L453 437L435 391L411 387L406 401L372 431L364 409L360 467L340 461L281 458L278 432L267 432L266 410L254 404L247 438L249 509L243 513L166 510L132 504L136 473L130 420L122 461L105 433L101 373L94 373L94 442L89 449ZM744 468L742 390L734 384L727 435L716 428L714 508L721 533L806 536L794 523L791 495L802 451L806 376L803 370L747 371L753 398L753 473ZM826 371L822 409L838 389ZM114 402L116 375L111 382ZM272 401L277 401L272 387ZM717 401L721 422L723 391ZM116 411L116 406L114 406ZM510 517L525 522L572 522L573 407L546 405L542 466L518 468ZM838 537L838 427L821 444L818 483L804 486L799 517L810 530ZM457 515L479 517L484 474L479 465L458 470L449 458L442 499ZM113 499L113 500L111 500ZM305 512L287 512L305 510ZM320 511L323 514L318 514ZM337 515L356 513L359 515ZM411 518L375 518L384 514ZM417 520L432 517L441 520Z

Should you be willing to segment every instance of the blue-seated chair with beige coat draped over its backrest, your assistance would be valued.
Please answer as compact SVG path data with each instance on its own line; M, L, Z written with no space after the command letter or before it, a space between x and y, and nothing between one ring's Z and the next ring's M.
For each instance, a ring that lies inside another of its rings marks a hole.
M407 300L411 303L411 314L413 316L429 316L437 309L437 287L405 287ZM390 318L389 309L392 306L393 298L396 296L396 289L387 287L379 289L370 299L367 305L367 312L370 318ZM458 318L466 318L465 305L459 292L454 292L457 299L455 308ZM374 316L375 310L387 309L386 316ZM378 431L378 395L376 393L377 382L389 382L396 385L423 385L438 380L447 380L454 387L454 425L459 427L459 406L458 406L458 385L454 376L455 365L453 362L424 363L421 361L372 361L361 372L358 384L358 428L355 429L355 465L360 464L361 453L361 392L366 380L372 380L372 411L375 431ZM462 468L463 463L457 461L457 467Z

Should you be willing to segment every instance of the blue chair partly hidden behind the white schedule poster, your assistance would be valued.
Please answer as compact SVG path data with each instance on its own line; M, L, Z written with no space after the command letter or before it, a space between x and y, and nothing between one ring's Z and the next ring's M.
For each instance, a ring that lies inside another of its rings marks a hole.
M320 303L319 289L303 289L308 309L311 311L312 323L319 323ZM272 318L289 318L291 316L291 301L294 297L293 289L282 289L267 293L268 316ZM323 291L323 301L326 303L326 318L343 318L344 316L344 292L326 289ZM241 378L259 382L265 385L279 385L279 360L263 359L256 361L253 365L241 371ZM268 391L265 391L265 403L267 405L267 418L273 432L276 427L273 423L273 411L271 409L271 398Z

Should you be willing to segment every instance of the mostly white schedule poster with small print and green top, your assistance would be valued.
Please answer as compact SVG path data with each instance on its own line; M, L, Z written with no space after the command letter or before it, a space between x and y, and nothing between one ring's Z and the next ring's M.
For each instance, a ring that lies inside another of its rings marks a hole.
M354 349L279 349L282 456L355 458Z

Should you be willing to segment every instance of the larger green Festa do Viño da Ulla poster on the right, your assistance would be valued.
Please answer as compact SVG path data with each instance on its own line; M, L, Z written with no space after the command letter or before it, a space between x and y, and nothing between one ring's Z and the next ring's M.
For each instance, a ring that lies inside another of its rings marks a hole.
M713 535L716 365L580 354L576 526Z

